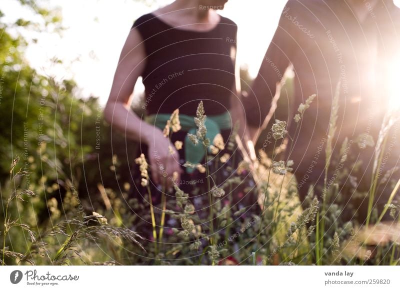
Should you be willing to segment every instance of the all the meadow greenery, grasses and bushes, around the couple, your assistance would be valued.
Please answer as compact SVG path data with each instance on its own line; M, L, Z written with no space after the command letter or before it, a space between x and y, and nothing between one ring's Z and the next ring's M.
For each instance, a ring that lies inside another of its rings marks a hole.
M57 23L51 13L38 13ZM316 105L315 95L294 104L298 109L287 118L279 113L286 101L280 100L275 117L281 120L271 121L261 134L256 159L230 167L223 183L208 166L186 164L204 178L182 182L204 192L184 192L180 183L153 204L148 160L145 154L135 155L138 144L127 143L111 130L96 97L76 98L73 80L41 75L30 67L23 54L28 43L21 35L7 33L1 21L0 25L1 265L400 265L395 202L400 180L391 178L398 168L380 171L382 148L398 123L395 111L386 115L377 140L362 136L359 140L368 142L356 144L374 150L366 192L356 191L356 184L341 187L355 164L348 139L333 150L337 93L324 136L324 183L310 187L304 203L298 198L302 181L292 173L296 164L283 157L291 150L285 145L291 137L282 120L301 124L307 109ZM16 25L30 24L21 20ZM132 109L143 114L140 105ZM215 168L233 158L222 154L225 147L237 144L235 133L229 140L207 139L206 114L200 102L197 134L190 139L204 147L206 158L212 160L206 165ZM166 138L180 130L178 111L165 125ZM131 195L133 164L140 166L142 179L136 186L145 192L142 200ZM335 177L328 178L338 165ZM230 206L230 193L241 185L242 176L255 181L244 192L257 196L257 215ZM375 201L382 188L391 194L378 209ZM201 205L207 208L206 215L193 204L199 195L206 197ZM343 218L357 214L356 208L344 209L341 200L348 196L368 201L365 223ZM390 219L383 221L387 216ZM166 225L171 220L174 227ZM150 238L141 231L143 223Z

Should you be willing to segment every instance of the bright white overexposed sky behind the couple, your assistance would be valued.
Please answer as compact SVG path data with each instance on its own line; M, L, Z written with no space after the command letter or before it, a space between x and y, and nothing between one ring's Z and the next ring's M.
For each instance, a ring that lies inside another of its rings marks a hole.
M16 0L1 0L0 9L6 20L19 17L32 18L32 12L21 7ZM148 6L134 0L47 0L49 7L60 7L63 26L62 36L56 33L26 35L36 37L36 44L29 44L27 61L39 72L55 75L57 79L73 78L79 97L94 95L105 104L122 45L133 24L142 14L172 2L154 0ZM265 50L276 29L279 15L286 0L229 0L220 14L238 25L238 60L248 65L255 76ZM245 4L243 4L245 3ZM254 29L255 27L259 27ZM53 58L62 65L51 65ZM143 91L140 81L135 94Z

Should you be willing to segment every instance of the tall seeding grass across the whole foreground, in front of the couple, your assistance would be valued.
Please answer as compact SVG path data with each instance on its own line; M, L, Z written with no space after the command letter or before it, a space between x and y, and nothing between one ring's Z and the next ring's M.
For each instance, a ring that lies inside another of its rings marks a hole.
M251 167L250 164L241 162L238 168L227 167L226 172L230 177L224 184L220 184L217 177L211 175L211 171L219 168L228 158L235 158L235 155L233 157L218 155L223 147L220 146L216 150L218 147L216 141L213 140L211 144L211 141L206 138L206 115L200 102L194 119L197 132L189 138L194 144L202 146L205 166L189 163L185 166L205 174L204 192L196 186L193 186L193 192L183 192L177 184L174 184L174 199L166 199L166 194L162 193L160 205L153 204L146 156L141 155L135 160L141 172L141 186L147 190L148 204L144 206L138 200L127 202L134 209L144 207L148 210L145 218L151 220L152 243L146 243L143 247L141 237L136 232L115 226L116 221L118 225L136 225L140 220L135 214L122 210L116 194L111 189L104 189L102 193L103 199L107 200L105 208L93 211L90 215L79 216L76 208L71 206L65 207L65 209L68 208L64 212L65 218L61 218L62 215L54 215L50 226L32 223L31 219L29 222L24 221L20 211L25 208L23 205L26 205L29 200L34 200L36 195L33 191L18 188L21 186L25 172L17 170L19 160L15 159L11 165L9 182L6 186L1 186L4 217L0 236L2 239L1 264L399 265L396 243L400 241L398 227L400 208L394 200L400 188L400 181L396 180L393 184L386 205L378 213L376 220L372 220L372 212L376 211L374 209L376 189L386 178L379 181L381 148L384 147L387 131L393 121L387 121L386 125L382 126L375 145L371 188L365 193L369 198L368 219L365 226L357 224L356 221L346 223L340 221L343 205L338 201L348 194L339 190L340 183L348 178L349 171L343 169L333 184L328 186L331 165L337 158L344 160L351 156L351 152L344 154L344 150L340 150L339 156L336 156L332 148L336 131L339 86L340 84L337 85L333 98L326 137L323 188L310 187L303 204L304 208L298 201L297 184L291 174L292 167L295 165L291 160L279 160L275 149L284 137L295 141L304 112L312 105L315 96L310 96L304 104L299 105L297 114L294 116L294 121L298 124L294 136L288 136L285 122L276 120L270 132L274 138L270 158L260 151L256 166ZM178 118L178 111L172 114L169 123L166 124L165 130L168 131L166 138L170 138L171 131L178 130L179 126L172 129L172 123L176 123L176 118ZM226 144L233 150L236 146L234 138L230 138ZM213 146L213 150L210 150L210 146ZM342 145L342 148L344 147L346 147L345 142ZM289 148L289 152L291 151L292 147ZM345 158L344 155L346 155ZM213 161L210 161L211 157ZM351 162L348 161L348 163ZM257 186L262 191L256 192L255 185L243 190L247 194L259 194L259 216L254 213L248 214L248 209L245 207L236 208L231 196L231 193L243 182L241 173L250 170L256 170L256 175L260 177L257 180L259 183ZM390 177L391 174L386 175ZM224 199L225 191L228 196ZM355 192L354 194L364 193ZM192 201L195 197L202 195L205 195L205 199L201 202L205 204L195 206ZM317 196L321 197L320 200ZM53 207L57 208L57 204L55 203ZM114 214L113 207L118 208L121 214ZM161 209L159 221L154 208ZM198 208L209 209L207 217L201 215ZM381 220L388 211L393 222L382 223ZM37 213L34 212L34 214ZM176 221L175 227L165 226L167 216L170 220ZM372 222L375 225L372 226ZM158 226L160 228L157 232ZM21 238L24 235L28 239ZM13 248L10 249L11 242ZM374 245L375 248L371 249L369 245ZM110 257L112 259L109 259Z

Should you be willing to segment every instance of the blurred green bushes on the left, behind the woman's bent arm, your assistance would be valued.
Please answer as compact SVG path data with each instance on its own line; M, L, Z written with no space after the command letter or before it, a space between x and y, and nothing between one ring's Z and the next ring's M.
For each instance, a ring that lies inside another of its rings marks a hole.
M60 18L54 18L53 11L38 7L35 1L21 3L41 15L46 25L60 21ZM35 260L33 263L51 264L58 249L80 227L79 223L86 227L85 217L91 216L95 209L101 211L104 207L104 197L99 193L98 184L116 189L123 187L120 180L129 180L129 161L135 158L135 148L126 146L120 134L111 133L110 127L103 122L102 108L97 98L76 98L73 80L59 81L40 75L24 60L23 51L28 45L27 41L20 33L12 33L14 36L11 36L8 32L21 24L26 29L35 30L38 27L23 20L3 23L0 18L0 242L4 242L8 251L4 252L7 253L5 264L14 264L15 261L27 263L27 257L22 259L15 253L33 251L33 248L29 250L33 246L36 251L37 247L42 246L40 243L47 245L46 251L37 250L36 254L42 258L46 256L49 260L43 258L41 262ZM10 172L11 164L14 170ZM26 201L9 201L20 191L33 192L34 195ZM122 202L118 202L118 198L112 196L113 210L118 216L109 220L109 225L113 227L122 225L118 213ZM4 238L2 234L6 225L14 219L26 227L13 226L8 237ZM73 224L75 220L77 222ZM30 242L25 236L28 228L34 230L31 236L36 237ZM48 239L45 238L46 233L58 229L64 230L59 232L60 235L53 233ZM115 233L121 234L118 231ZM37 240L38 244L33 240ZM87 247L94 239L80 240ZM122 240L117 237L111 244L105 242L105 249L116 255L118 251L123 251L120 248ZM117 246L112 248L112 243L117 243ZM71 249L74 251L76 249L73 247L77 246L73 245ZM70 253L65 253L61 259L58 253L59 264L68 264L68 255ZM74 258L70 261L77 259L75 263L81 263L78 262L81 261L79 255L72 256ZM102 263L109 259L109 255L105 252L95 257L94 261L87 259L84 258L83 263Z

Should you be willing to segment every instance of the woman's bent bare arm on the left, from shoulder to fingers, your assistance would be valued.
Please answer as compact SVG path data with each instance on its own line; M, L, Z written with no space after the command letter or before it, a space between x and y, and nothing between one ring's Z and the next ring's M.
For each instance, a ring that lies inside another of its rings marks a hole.
M178 153L160 129L142 121L130 110L134 84L144 70L145 58L142 37L133 28L119 57L111 92L104 108L104 118L112 128L124 133L127 138L147 144L146 157L150 163L153 181L160 184L166 179L167 185L171 186L171 178L167 177L172 176L173 172L181 172L177 161ZM173 154L170 154L169 147L172 147ZM179 182L179 178L176 182Z

